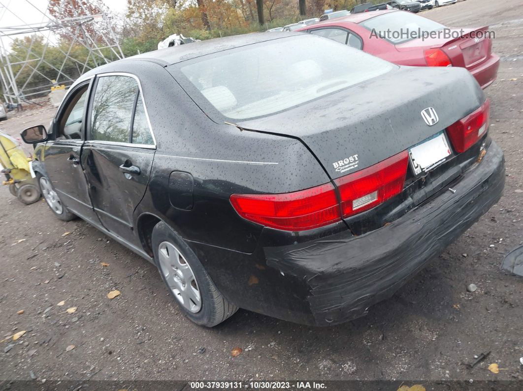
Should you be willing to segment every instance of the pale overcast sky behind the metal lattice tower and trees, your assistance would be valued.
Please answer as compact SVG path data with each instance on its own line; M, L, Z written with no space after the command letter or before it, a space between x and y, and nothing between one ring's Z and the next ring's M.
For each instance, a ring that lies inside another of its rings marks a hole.
M49 20L47 17L49 15L47 12L48 3L48 0L0 0L0 28ZM126 13L127 0L104 0L104 3L116 13ZM47 32L44 32L44 34L47 36ZM22 35L17 36L17 38L20 37ZM1 39L7 49L12 40L6 37Z

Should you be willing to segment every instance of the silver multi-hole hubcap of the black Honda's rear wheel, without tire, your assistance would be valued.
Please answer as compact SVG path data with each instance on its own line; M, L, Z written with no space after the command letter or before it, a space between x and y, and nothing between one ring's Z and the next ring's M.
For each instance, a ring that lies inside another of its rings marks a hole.
M188 311L201 310L201 294L194 272L178 249L169 242L158 246L158 261L167 286Z

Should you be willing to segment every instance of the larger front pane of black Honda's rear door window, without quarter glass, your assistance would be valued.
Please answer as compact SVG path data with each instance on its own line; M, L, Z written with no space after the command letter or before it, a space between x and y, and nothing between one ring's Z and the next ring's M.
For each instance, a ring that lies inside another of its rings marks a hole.
M98 79L91 111L90 139L129 143L138 83L129 76Z

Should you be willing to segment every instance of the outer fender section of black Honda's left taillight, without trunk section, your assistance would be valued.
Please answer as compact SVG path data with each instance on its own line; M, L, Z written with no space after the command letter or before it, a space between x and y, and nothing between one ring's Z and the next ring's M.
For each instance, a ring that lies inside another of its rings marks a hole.
M231 204L247 220L286 231L309 230L341 220L331 183L286 194L233 194Z

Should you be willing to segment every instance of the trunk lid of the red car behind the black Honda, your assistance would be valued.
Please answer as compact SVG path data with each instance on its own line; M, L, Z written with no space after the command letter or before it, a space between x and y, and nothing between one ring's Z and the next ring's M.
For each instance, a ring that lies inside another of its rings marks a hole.
M483 63L492 54L492 40L486 31L488 26L479 29L451 29L456 38L415 39L396 45L397 51L414 48L441 49L453 66L472 69ZM481 38L476 38L481 37Z

